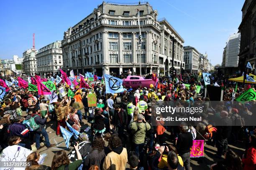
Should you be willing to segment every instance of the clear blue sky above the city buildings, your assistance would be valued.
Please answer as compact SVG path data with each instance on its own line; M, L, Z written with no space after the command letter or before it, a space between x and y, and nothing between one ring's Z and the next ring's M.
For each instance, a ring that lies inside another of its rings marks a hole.
M221 64L229 35L238 32L245 0L150 0L158 18L166 18L184 46L207 52ZM108 1L105 1L108 2ZM131 3L136 0L111 0ZM33 46L40 49L62 40L64 31L92 13L102 0L5 0L0 2L0 59L12 59Z

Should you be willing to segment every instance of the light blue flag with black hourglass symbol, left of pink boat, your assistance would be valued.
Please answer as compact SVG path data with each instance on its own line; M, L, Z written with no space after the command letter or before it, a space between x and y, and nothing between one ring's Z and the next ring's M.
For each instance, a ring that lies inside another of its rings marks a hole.
M105 74L104 77L106 93L119 93L124 91L122 79L107 74Z

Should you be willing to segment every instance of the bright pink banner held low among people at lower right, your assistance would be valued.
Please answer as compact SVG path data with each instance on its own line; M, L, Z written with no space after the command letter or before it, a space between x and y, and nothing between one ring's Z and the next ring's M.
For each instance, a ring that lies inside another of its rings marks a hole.
M193 145L190 148L190 158L198 158L205 156L204 140L193 140Z

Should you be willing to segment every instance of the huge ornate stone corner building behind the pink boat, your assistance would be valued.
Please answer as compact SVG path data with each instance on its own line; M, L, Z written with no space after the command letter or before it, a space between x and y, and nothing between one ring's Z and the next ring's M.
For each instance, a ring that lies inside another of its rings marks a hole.
M157 17L158 12L148 2L136 5L103 2L64 32L61 42L64 69L74 70L75 74L89 71L98 75L127 74L130 69L133 75L139 75L141 64L141 74L156 71L169 75L174 55L174 67L179 73L184 68L184 40L166 19Z

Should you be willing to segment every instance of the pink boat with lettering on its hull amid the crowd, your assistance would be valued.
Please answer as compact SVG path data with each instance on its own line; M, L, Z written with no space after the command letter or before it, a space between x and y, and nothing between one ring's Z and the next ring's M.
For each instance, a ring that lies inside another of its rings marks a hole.
M141 77L138 75L130 75L127 78L123 79L123 86L125 87L132 87L137 88L139 86L141 87L147 87L150 88L150 84L156 86L156 83L158 82L158 79L155 78L155 80L152 79L145 79L145 77Z

